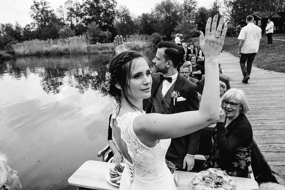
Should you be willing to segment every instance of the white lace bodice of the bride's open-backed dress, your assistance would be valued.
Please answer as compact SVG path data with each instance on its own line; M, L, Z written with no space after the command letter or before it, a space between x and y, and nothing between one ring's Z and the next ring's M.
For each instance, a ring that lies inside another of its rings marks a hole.
M113 113L112 118L117 120L118 127L121 129L121 138L127 144L128 153L133 161L135 175L153 178L160 176L167 169L165 154L171 139L160 140L153 148L145 146L133 131L135 117L142 114L139 111L127 112L122 117L116 117L116 114ZM114 136L113 141L117 146Z

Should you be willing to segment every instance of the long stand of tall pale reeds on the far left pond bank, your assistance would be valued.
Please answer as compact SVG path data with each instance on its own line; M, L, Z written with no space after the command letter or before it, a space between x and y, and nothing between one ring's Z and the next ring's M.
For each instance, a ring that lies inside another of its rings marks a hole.
M12 46L16 56L87 53L89 41L85 36L50 40L29 40Z

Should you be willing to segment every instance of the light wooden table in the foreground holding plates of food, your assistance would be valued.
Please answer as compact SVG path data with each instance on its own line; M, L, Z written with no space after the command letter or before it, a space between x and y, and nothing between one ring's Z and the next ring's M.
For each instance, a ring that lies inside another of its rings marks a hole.
M110 168L113 168L113 163L99 162L89 160L84 162L74 174L68 179L68 184L78 187L78 189L98 189L98 190L118 190L119 187L111 185L107 179L106 174ZM176 171L180 181L177 190L191 190L190 179L194 177L193 172ZM249 178L233 177L238 183L242 184L242 190L257 189L258 184L255 180Z

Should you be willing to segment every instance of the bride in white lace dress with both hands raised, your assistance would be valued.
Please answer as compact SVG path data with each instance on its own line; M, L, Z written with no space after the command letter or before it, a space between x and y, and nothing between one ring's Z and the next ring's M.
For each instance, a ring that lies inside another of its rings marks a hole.
M111 120L113 141L126 162L120 189L176 189L165 163L171 138L193 133L219 120L218 57L227 25L221 34L223 19L218 27L217 15L212 25L211 20L207 20L205 38L200 32L200 47L206 61L205 88L198 111L145 114L143 99L150 97L152 85L148 60L138 52L126 51L122 36L115 38L119 55L110 61L109 94L118 103Z

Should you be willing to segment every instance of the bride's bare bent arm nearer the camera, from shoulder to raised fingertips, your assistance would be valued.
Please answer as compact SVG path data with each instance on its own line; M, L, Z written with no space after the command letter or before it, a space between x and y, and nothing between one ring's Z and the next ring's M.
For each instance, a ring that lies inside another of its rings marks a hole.
M198 111L187 111L169 115L150 113L134 119L133 129L143 142L154 142L157 139L180 137L197 131L219 119L219 68L218 58L221 53L227 25L225 25L221 38L223 19L217 26L217 16L211 26L208 19L205 30L200 32L200 46L205 55L205 88ZM211 29L211 34L210 34Z

